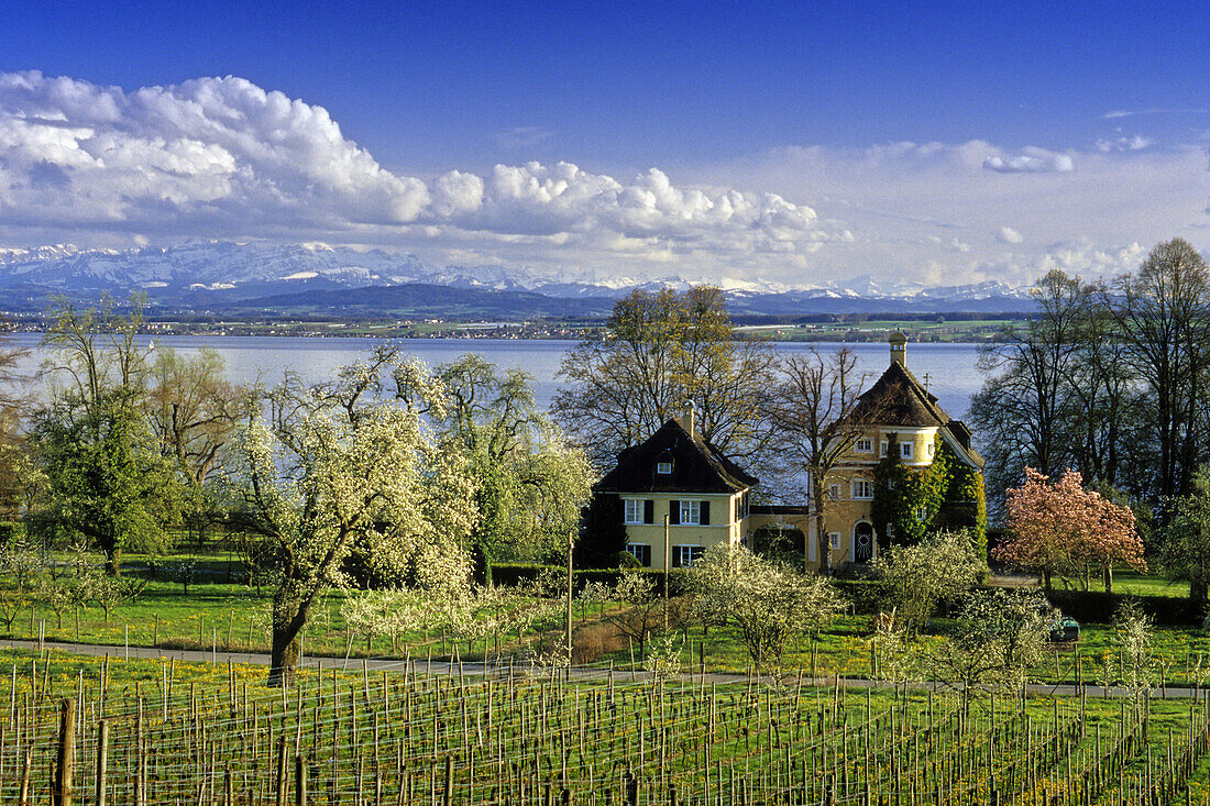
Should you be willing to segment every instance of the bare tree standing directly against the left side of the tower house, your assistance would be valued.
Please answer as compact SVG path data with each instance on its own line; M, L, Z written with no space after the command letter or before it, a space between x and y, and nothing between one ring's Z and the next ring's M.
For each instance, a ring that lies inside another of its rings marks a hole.
M782 382L768 408L782 455L793 472L807 474L806 493L824 575L831 574L828 474L885 409L883 402L869 397L859 405L865 381L866 373L857 369L851 350L824 355L811 347L785 359Z

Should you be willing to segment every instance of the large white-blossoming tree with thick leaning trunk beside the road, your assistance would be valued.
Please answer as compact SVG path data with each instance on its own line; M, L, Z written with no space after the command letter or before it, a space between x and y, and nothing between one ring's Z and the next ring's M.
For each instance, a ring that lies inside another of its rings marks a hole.
M425 546L456 547L474 526L476 490L462 455L426 426L425 411L440 415L439 385L394 347L328 384L288 376L267 402L267 422L240 439L238 496L276 586L269 683L288 685L311 608L347 585L355 548L398 569Z

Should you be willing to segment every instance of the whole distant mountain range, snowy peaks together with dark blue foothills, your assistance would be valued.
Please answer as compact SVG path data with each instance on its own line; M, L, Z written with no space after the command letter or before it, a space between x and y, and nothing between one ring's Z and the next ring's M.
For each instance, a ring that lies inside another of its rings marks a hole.
M415 254L325 243L192 242L136 249L0 248L0 310L40 311L52 294L148 295L162 311L439 318L599 317L635 288L681 277L600 280L499 265L434 267ZM724 280L733 315L1024 312L1028 294L998 282L926 287L865 275L823 286Z

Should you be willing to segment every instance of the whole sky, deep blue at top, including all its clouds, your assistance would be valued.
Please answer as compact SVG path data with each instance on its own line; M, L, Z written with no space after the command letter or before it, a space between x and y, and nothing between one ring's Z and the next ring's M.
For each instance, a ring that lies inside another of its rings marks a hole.
M812 284L1112 274L1210 241L1200 4L145 5L5 7L0 246L327 240Z

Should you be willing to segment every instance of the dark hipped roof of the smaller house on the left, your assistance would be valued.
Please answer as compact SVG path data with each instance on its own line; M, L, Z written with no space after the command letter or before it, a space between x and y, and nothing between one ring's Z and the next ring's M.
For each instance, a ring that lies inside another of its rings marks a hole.
M658 462L672 462L672 473L657 473ZM739 493L756 484L702 434L669 420L641 444L617 456L617 466L593 489L598 493Z

